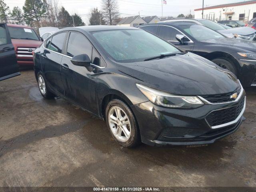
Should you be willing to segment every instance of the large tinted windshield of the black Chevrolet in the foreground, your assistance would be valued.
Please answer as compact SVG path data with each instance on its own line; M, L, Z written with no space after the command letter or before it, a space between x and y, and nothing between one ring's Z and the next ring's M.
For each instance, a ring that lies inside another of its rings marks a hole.
M92 32L102 48L117 62L141 62L161 54L181 53L168 42L144 30Z

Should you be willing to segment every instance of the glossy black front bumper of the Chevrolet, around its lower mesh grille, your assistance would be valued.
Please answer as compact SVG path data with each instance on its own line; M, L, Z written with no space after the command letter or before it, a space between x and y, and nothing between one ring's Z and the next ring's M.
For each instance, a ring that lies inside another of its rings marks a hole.
M231 108L238 105L245 97L245 92L237 102L210 105L196 109L171 109L156 106L152 102L144 102L133 106L136 115L142 142L154 145L202 145L235 132L244 117L244 110L232 124L220 128L212 128L206 121L206 116L212 111Z

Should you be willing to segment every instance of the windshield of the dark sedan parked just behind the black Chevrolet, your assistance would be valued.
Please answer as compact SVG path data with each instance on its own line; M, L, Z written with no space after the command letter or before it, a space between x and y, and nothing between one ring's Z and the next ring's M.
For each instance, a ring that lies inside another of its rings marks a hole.
M217 39L225 38L223 35L218 32L211 30L202 25L183 25L180 26L186 33L190 34L198 41L208 40L208 39Z

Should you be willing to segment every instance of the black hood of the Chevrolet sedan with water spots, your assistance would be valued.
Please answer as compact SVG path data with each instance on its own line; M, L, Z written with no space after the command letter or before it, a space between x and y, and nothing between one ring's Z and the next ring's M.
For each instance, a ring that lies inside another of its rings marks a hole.
M192 53L122 66L120 72L141 84L178 95L228 93L239 83L230 72Z

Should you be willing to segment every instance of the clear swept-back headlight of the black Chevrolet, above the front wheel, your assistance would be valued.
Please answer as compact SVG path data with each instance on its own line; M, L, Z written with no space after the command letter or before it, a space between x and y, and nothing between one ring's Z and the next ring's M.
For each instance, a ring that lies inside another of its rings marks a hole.
M154 104L179 109L194 109L204 103L197 96L178 96L162 92L147 86L136 84L138 89Z

